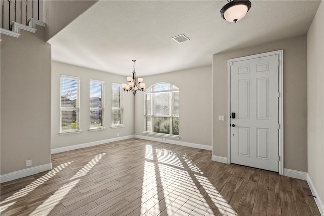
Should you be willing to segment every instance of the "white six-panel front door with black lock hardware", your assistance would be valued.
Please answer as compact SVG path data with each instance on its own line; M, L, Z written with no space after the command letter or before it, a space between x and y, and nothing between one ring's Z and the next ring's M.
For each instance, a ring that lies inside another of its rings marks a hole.
M279 170L278 65L278 55L231 62L231 163Z

